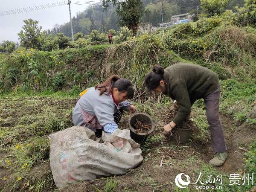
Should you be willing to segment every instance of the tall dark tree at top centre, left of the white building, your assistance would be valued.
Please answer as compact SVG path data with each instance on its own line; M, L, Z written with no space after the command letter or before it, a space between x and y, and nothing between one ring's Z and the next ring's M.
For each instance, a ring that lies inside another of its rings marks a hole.
M132 30L133 35L136 35L143 16L143 3L140 0L102 0L102 5L105 9L110 4L116 6L116 15L119 17L119 24L121 26L128 26Z

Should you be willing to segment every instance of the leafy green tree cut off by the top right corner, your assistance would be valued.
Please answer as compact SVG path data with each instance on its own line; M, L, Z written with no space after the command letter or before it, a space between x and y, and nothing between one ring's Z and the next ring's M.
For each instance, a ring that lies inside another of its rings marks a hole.
M256 27L256 0L244 0L244 6L236 9L239 25Z

